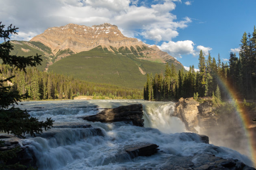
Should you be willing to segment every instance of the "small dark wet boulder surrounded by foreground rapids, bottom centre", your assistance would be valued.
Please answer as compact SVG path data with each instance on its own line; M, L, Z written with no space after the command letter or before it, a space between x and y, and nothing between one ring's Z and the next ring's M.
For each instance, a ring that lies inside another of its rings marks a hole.
M150 156L156 153L159 146L152 143L133 144L125 147L125 151L134 158L137 156Z

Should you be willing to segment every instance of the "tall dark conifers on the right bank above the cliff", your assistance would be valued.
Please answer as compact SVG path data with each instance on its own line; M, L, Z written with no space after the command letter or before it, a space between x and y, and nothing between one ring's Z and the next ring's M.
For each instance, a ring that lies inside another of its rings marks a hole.
M165 73L147 74L143 96L145 100L177 100L181 97L212 97L227 99L224 86L232 88L238 99L256 98L256 29L253 34L244 33L241 39L239 57L230 53L229 62L217 61L202 50L199 53L199 71L190 66L188 72L183 69L178 73L175 67L166 64Z

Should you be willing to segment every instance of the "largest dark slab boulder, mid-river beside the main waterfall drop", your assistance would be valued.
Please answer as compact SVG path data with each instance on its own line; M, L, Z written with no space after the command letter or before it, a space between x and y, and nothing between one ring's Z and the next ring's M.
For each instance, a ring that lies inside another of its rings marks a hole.
M112 123L117 121L132 121L133 125L144 126L142 104L131 104L127 106L119 106L117 108L105 108L97 115L91 115L83 118L88 121L100 121L103 123Z

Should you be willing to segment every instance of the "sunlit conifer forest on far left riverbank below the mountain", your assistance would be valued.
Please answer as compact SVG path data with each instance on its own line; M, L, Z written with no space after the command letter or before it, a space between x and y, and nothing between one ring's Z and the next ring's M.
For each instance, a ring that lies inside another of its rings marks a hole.
M53 72L40 72L36 68L26 68L26 72L8 65L0 65L2 78L15 76L11 82L12 89L20 95L27 94L26 99L72 99L74 96L100 96L108 98L142 99L141 89L118 87L115 85L90 83Z

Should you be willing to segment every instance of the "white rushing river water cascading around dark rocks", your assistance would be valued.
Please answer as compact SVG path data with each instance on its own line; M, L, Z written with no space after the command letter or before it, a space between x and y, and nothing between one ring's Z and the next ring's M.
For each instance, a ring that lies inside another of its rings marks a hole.
M99 113L102 108L121 105L143 104L145 127L122 122L100 123L85 121L82 117ZM173 155L191 156L195 153L211 153L223 158L235 158L252 166L244 155L225 147L211 149L213 145L203 143L195 134L186 132L182 121L173 117L175 104L172 102L148 102L143 100L64 100L22 102L19 105L29 114L45 121L52 117L54 128L37 135L27 136L35 152L39 170L119 170L157 169ZM97 107L99 106L99 107ZM90 124L94 128L80 128ZM69 128L67 125L76 125ZM95 128L100 128L103 135ZM149 142L159 145L160 151L150 157L131 159L122 149L126 145Z

